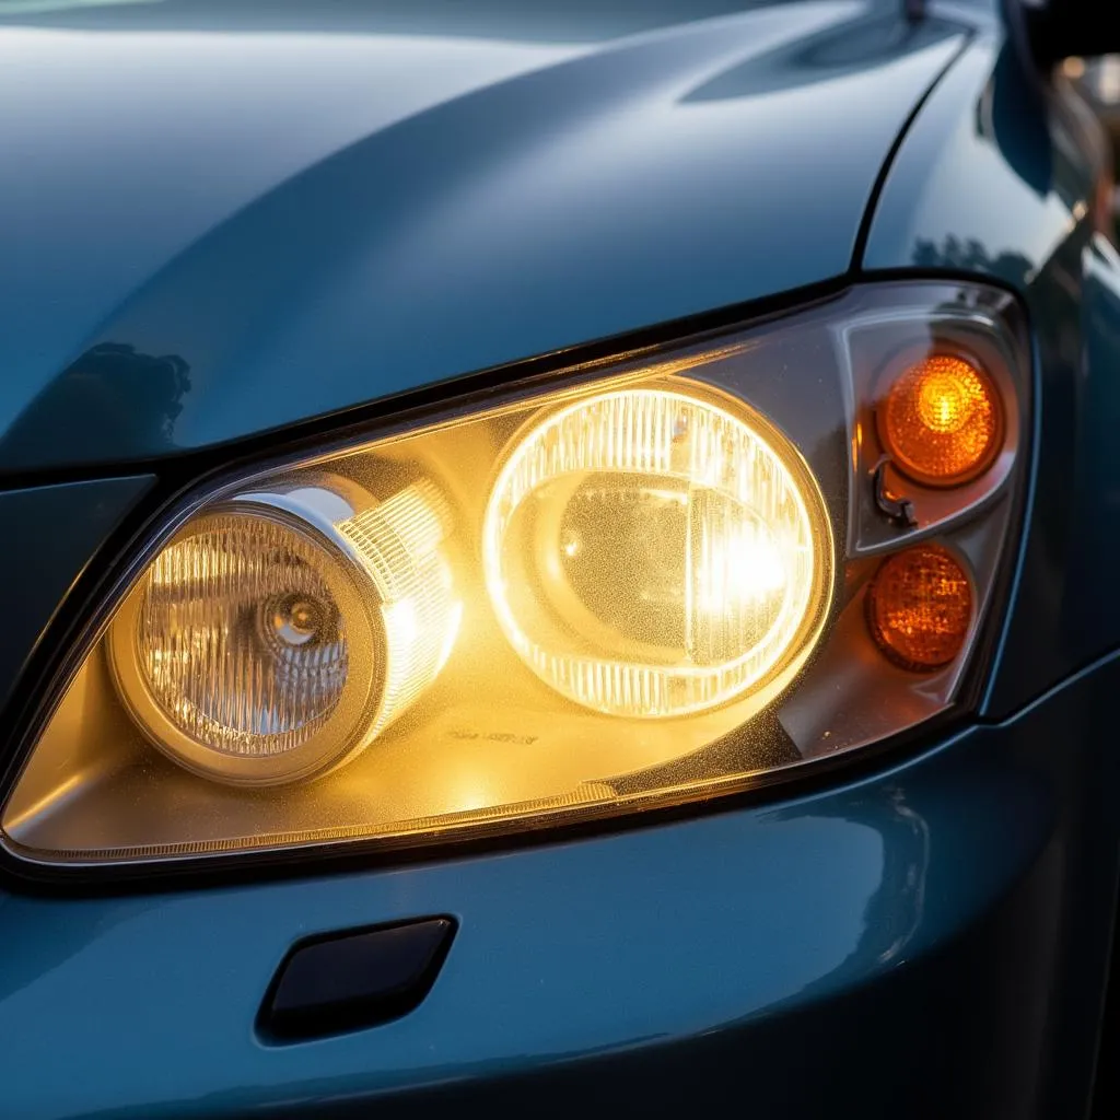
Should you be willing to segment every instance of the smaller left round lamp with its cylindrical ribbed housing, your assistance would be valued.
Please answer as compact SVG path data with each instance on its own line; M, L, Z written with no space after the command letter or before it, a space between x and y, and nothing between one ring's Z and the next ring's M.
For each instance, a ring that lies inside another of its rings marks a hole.
M435 680L460 604L420 484L239 494L180 530L113 623L118 688L180 765L268 785L336 766Z

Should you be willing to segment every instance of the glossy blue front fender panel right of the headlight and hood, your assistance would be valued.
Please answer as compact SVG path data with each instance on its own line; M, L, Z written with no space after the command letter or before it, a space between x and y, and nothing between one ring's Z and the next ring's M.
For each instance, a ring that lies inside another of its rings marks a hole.
M1044 96L998 35L978 36L907 133L862 261L990 276L1030 314L1038 461L995 716L1120 644L1120 256L1094 225L1105 155L1081 103Z

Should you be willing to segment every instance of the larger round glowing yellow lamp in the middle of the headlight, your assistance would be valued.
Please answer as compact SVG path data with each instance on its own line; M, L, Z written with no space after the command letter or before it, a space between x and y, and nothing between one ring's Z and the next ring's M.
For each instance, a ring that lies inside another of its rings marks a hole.
M780 433L654 388L580 401L525 435L483 549L498 620L532 670L636 717L772 684L808 653L832 563L820 493Z

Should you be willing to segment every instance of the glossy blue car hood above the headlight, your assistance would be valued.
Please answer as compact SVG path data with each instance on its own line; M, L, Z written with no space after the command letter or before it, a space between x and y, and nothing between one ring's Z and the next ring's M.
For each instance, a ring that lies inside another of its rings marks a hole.
M0 473L843 274L964 32L743 7L0 0Z

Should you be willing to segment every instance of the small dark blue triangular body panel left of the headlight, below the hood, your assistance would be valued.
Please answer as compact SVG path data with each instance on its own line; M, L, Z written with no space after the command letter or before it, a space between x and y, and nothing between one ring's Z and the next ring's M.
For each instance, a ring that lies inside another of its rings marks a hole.
M144 475L0 492L0 586L8 589L0 707L74 581L153 482Z

